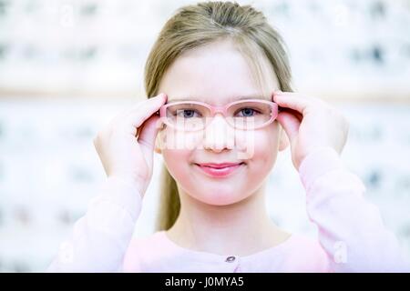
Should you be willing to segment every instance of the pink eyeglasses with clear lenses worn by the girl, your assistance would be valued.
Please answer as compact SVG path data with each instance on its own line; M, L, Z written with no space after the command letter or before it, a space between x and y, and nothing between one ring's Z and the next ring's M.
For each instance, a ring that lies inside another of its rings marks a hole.
M278 105L261 99L245 99L224 106L181 101L162 105L159 109L164 124L183 131L204 129L217 113L236 129L253 130L271 124L278 115Z

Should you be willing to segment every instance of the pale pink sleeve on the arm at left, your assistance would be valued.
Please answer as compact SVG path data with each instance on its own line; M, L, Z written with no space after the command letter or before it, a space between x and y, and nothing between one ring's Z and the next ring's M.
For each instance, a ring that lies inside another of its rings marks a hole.
M120 272L141 205L136 186L108 177L46 272Z

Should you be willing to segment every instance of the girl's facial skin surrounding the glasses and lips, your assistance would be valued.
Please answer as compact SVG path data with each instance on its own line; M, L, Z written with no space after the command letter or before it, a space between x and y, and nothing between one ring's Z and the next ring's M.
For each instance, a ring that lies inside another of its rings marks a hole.
M279 86L268 64L264 64L264 79L265 92L261 92L245 57L224 40L180 55L162 78L159 92L168 95L168 103L183 99L222 106L243 96L272 101L272 91ZM179 193L213 206L234 204L259 190L278 150L287 146L277 121L242 131L228 125L220 114L203 131L177 132L165 126L158 137L166 142L157 143L156 152L162 154ZM170 140L173 148L167 145ZM225 162L243 164L223 177L210 176L197 165Z

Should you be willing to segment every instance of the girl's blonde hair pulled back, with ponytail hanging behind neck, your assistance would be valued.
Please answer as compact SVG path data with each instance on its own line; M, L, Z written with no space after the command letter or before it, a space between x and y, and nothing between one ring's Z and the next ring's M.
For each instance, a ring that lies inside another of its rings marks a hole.
M158 95L159 84L169 66L183 52L230 38L239 46L261 85L261 60L268 60L282 91L292 91L291 69L281 35L251 5L232 2L201 2L180 7L159 33L145 65L145 89ZM168 230L179 216L179 193L175 179L162 167L159 216L156 230Z

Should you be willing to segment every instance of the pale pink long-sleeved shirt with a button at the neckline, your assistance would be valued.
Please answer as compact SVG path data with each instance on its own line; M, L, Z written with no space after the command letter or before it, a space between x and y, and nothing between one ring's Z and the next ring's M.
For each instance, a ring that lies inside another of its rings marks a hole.
M165 231L132 238L141 196L133 185L110 177L47 271L410 272L407 252L332 148L306 156L299 175L317 240L292 234L251 256L221 256L178 246Z

